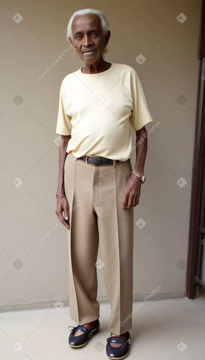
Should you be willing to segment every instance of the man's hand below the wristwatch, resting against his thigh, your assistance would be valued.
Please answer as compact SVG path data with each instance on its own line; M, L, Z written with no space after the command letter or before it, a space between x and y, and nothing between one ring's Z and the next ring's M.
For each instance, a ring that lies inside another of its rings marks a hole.
M132 174L124 188L124 197L122 201L123 209L130 209L139 204L141 180L135 174Z

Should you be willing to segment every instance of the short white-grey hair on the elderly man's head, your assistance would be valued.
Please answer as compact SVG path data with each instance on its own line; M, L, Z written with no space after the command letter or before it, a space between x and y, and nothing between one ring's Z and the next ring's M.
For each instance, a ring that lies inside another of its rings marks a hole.
M69 20L68 27L67 27L67 40L68 40L69 37L73 40L71 27L72 27L72 22L73 22L74 18L77 15L90 15L90 14L97 15L100 18L103 35L105 35L105 33L108 30L110 30L108 20L107 20L105 14L102 11L95 10L95 9L81 9L81 10L75 11L74 14L72 14L72 16L71 16L71 18Z

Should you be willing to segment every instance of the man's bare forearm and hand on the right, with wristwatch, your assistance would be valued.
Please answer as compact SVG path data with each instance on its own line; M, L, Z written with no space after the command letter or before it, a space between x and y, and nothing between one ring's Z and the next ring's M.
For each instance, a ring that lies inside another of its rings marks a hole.
M147 131L145 127L143 127L140 130L136 131L136 162L135 162L134 170L140 175L143 175L146 154L147 154ZM124 197L122 201L123 209L130 209L131 207L138 205L139 196L140 196L140 187L141 187L141 179L137 175L132 174L128 179L124 189Z

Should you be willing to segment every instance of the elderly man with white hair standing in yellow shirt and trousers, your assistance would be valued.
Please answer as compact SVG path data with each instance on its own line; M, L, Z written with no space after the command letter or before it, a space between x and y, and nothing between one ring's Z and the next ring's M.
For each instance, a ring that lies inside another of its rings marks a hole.
M78 324L69 345L81 347L99 330L97 266L103 269L112 310L107 357L123 359L132 328L133 207L145 180L144 126L152 118L135 70L104 59L110 34L98 10L79 10L68 23L74 54L85 64L60 88L56 214L67 227L70 315ZM133 148L130 125L137 135ZM96 263L98 243L101 259Z

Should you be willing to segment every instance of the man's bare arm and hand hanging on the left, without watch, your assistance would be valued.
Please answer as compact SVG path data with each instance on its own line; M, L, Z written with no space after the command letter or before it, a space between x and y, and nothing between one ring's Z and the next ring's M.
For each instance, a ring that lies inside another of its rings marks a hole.
M62 135L60 146L59 146L59 175L58 175L58 189L56 192L57 198L57 207L56 215L63 225L68 229L69 227L69 214L68 214L68 201L65 195L65 186L64 186L64 165L65 160L68 155L66 152L68 147L68 141L70 140L70 135Z

